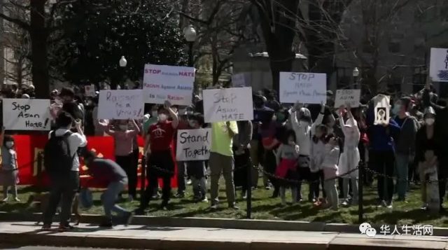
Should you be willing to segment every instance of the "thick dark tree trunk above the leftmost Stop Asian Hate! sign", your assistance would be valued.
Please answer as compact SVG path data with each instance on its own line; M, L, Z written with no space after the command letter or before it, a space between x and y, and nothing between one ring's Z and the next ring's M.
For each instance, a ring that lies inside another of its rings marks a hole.
M36 98L50 97L50 77L48 74L48 29L45 27L45 1L32 0L31 5L31 74L36 88Z

